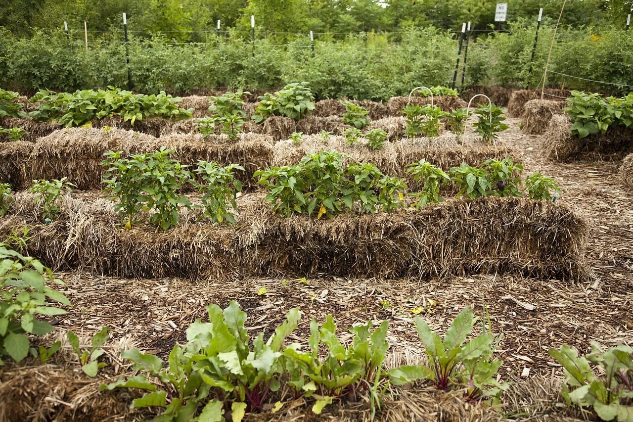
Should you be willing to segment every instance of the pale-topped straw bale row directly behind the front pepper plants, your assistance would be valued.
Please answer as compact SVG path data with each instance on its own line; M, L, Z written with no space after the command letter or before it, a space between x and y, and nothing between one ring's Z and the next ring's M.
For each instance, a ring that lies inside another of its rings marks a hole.
M256 186L253 177L256 170L296 164L310 152L325 150L339 151L358 162L375 163L385 174L399 177L408 175L406 165L422 158L443 169L458 166L462 161L479 165L487 158L513 157L521 161L515 148L484 144L473 136L458 141L449 132L438 138L387 141L380 150L368 148L363 139L350 146L342 136L330 136L323 142L320 135L304 135L299 145L288 139L275 143L274 139L255 133L241 134L238 141L231 142L226 135L205 138L199 134L168 134L156 138L122 129L61 129L35 143L0 143L0 182L9 182L19 189L34 179L67 177L78 189L96 189L101 186L105 171L101 162L107 151L123 151L129 155L156 151L161 146L174 150L173 157L187 165L194 165L198 160L242 165L245 170L239 171L237 177L247 190ZM408 182L413 186L412 180Z

